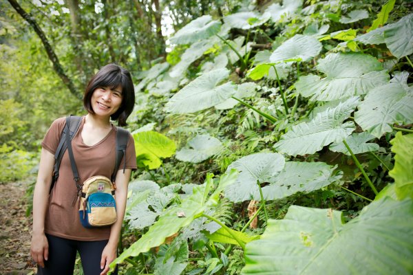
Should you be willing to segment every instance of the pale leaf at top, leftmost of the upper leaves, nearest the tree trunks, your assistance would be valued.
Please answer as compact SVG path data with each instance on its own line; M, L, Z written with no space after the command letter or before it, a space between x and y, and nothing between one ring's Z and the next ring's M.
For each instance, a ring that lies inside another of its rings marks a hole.
M204 15L189 22L171 37L173 44L191 44L220 32L221 22L212 20L211 15Z

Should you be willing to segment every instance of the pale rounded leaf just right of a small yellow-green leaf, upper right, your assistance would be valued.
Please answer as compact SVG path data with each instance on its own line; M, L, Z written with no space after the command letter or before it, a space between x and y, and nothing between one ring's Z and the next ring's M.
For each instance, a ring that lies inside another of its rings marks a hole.
M270 61L277 63L287 61L288 59L298 58L302 61L308 61L321 52L323 45L313 36L295 34L293 38L288 39L271 54Z

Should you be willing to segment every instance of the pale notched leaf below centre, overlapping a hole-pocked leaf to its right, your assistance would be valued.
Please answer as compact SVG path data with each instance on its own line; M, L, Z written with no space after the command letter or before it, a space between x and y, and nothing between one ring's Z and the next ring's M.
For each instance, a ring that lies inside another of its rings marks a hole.
M235 181L224 189L224 195L231 201L246 201L260 197L257 181L273 182L275 176L285 165L284 157L277 153L257 153L247 155L233 162L228 170L236 169L240 174Z

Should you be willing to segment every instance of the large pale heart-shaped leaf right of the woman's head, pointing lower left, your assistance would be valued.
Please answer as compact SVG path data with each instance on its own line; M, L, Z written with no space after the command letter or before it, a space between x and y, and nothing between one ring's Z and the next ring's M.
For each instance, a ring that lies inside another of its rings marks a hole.
M202 74L173 95L165 110L170 113L194 113L224 102L236 91L236 86L231 83L220 85L228 76L228 69L215 69Z

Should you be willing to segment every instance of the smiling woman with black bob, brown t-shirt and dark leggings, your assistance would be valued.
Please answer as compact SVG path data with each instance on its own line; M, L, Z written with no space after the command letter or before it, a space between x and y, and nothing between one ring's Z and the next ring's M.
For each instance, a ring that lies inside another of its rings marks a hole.
M125 126L134 101L131 75L118 65L106 65L89 81L83 98L87 115L82 117L72 140L79 183L96 175L110 179L116 160L117 131L110 118ZM72 203L77 190L67 150L61 160L59 178L49 195L54 153L64 126L65 118L55 120L42 142L33 197L31 254L38 264L38 274L73 274L76 251L81 255L86 275L107 274L109 264L116 259L127 185L131 170L136 169L134 140L129 133L125 157L116 172L116 223L103 228L84 228L78 203Z

